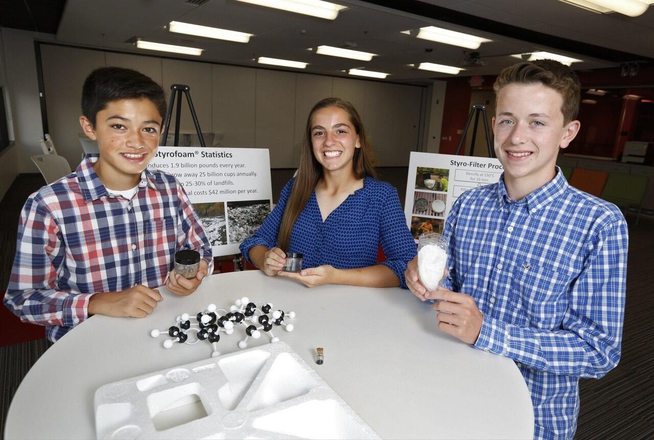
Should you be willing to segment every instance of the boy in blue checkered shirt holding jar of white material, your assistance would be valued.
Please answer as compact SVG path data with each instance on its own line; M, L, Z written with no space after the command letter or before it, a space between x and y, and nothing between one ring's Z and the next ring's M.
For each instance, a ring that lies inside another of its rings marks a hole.
M428 292L414 259L405 277L439 300L438 327L520 369L534 437L572 439L579 378L600 378L621 353L627 223L615 205L568 185L556 166L579 131L579 80L557 61L507 67L494 86L496 184L464 192L443 235L449 276Z

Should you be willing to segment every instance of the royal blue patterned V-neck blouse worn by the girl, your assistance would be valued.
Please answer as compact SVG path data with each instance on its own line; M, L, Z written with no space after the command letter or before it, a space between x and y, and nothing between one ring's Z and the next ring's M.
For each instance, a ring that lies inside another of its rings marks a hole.
M241 243L241 252L248 261L253 246L270 249L277 245L277 232L293 181L284 186L279 203L261 228ZM381 264L390 268L400 279L400 286L406 288L404 271L416 255L416 246L400 197L390 184L366 177L364 187L349 195L324 222L316 193L312 192L293 226L288 251L303 254L302 267L330 264L338 269L354 269L377 264L379 245L387 258Z

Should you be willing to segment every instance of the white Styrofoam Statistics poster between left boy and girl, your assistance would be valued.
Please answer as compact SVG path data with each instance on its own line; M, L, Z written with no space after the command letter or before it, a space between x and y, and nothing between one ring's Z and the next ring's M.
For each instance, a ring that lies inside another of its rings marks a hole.
M175 175L205 227L214 256L239 244L270 213L270 156L264 148L160 146L149 168Z

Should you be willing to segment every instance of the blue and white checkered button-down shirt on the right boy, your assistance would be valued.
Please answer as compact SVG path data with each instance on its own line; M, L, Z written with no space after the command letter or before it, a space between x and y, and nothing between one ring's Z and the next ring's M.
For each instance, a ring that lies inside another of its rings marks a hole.
M483 313L475 347L508 356L534 405L534 438L572 439L579 377L620 359L627 277L622 213L556 177L520 201L503 178L464 192L443 232L445 286Z

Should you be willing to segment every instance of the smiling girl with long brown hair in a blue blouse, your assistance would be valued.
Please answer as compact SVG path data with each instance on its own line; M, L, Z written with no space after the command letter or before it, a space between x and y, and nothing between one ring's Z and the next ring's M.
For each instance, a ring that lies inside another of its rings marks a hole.
M373 152L353 105L331 97L307 120L298 175L256 233L241 244L250 262L271 277L307 286L405 288L416 254L398 192L375 180ZM379 246L387 261L377 264ZM303 254L300 273L284 272L286 252Z

